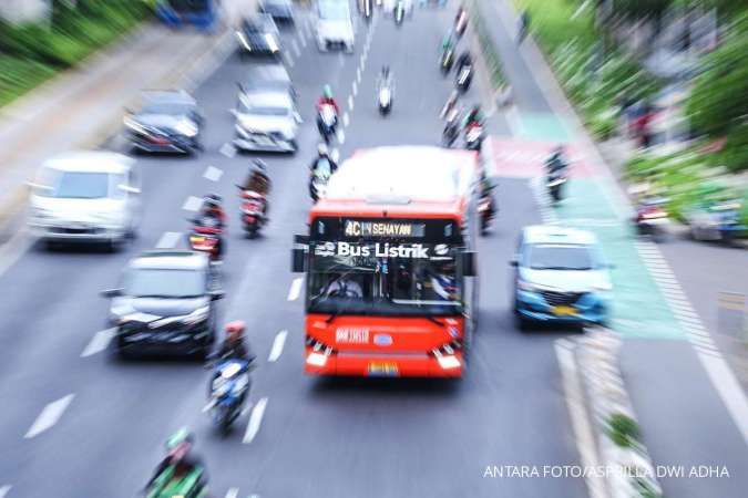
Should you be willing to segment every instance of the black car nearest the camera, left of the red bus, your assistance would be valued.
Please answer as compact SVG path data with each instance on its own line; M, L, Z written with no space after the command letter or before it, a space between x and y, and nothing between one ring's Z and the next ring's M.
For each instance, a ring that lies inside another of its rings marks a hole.
M148 251L125 268L112 298L110 326L119 356L136 353L205 357L216 338L216 303L208 258L193 251Z

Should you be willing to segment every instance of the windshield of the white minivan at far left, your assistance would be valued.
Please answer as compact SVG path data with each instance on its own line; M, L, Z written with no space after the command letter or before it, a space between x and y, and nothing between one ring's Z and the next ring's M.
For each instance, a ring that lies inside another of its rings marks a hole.
M39 175L35 194L59 199L119 197L116 186L123 181L123 175L111 173L45 169Z

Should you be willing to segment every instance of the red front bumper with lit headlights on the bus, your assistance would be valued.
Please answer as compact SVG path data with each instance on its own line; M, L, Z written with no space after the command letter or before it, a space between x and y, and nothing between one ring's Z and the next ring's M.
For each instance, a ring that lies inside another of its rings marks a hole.
M436 357L426 353L325 354L306 350L304 370L308 375L340 375L362 377L461 377L465 364L462 353Z

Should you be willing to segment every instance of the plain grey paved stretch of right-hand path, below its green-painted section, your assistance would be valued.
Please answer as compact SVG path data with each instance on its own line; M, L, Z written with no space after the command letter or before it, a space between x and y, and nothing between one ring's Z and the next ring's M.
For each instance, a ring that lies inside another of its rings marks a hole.
M622 347L621 362L652 459L686 469L686 478L659 479L665 496L745 496L748 448L693 346L631 340ZM725 468L729 478L687 478L699 465Z

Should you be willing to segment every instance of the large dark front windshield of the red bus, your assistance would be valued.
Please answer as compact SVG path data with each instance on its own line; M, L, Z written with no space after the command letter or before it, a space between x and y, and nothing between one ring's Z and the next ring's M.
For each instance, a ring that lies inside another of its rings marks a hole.
M385 243L363 243L357 247L367 247L368 256L328 256L330 243L314 250L307 292L310 312L445 315L462 309L454 249L439 257L392 258L378 256L387 252ZM427 255L433 251L433 246L421 247Z

